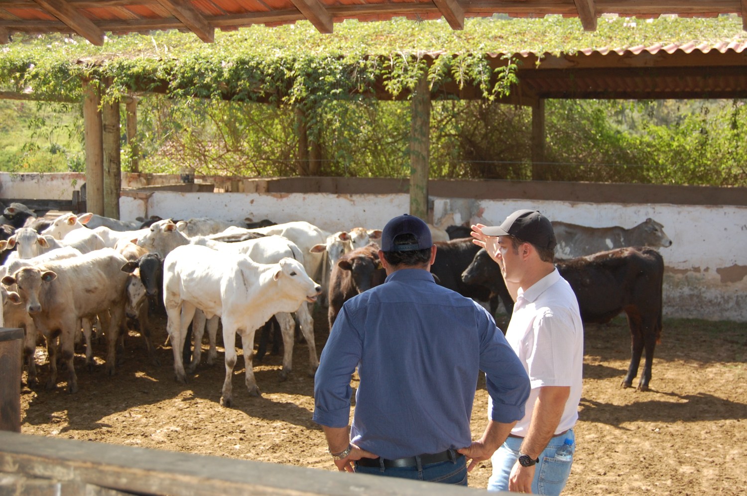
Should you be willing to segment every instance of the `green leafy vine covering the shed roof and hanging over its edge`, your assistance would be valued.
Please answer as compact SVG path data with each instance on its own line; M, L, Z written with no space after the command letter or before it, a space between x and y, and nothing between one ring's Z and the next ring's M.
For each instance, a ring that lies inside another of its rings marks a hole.
M434 95L445 84L473 84L484 98L515 83L511 54L572 54L582 48L654 43L744 41L741 19L603 17L587 33L578 19L467 19L463 31L446 22L346 21L319 34L309 22L218 32L215 43L191 34L112 36L102 47L80 37L21 37L0 55L0 86L44 98L81 98L81 78L111 78L108 98L167 92L173 98L229 98L313 106L327 98L365 98L383 81L391 98L409 94L427 72ZM488 53L506 54L493 69Z

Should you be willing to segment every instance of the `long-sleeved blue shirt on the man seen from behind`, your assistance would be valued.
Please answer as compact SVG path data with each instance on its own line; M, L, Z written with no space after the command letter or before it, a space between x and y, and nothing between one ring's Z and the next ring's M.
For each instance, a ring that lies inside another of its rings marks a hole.
M530 392L527 373L492 316L422 269L395 271L344 304L316 373L317 424L347 426L356 366L350 439L386 459L469 446L480 370L495 421L524 416Z

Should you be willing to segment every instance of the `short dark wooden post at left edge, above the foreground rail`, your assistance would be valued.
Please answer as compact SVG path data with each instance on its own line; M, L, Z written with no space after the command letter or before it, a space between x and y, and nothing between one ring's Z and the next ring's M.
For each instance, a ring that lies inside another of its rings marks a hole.
M21 432L23 329L0 327L0 430Z

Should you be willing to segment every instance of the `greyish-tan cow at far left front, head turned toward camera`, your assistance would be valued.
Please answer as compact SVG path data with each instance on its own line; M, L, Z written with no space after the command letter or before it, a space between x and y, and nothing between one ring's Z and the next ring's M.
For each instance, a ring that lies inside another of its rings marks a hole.
M69 372L69 392L78 391L73 347L81 318L109 315L106 371L114 374L115 348L125 305L127 274L121 268L125 258L111 248L81 254L66 260L23 267L2 278L5 286L16 284L11 300L23 303L39 332L51 336L60 330L62 359ZM55 346L49 346L48 388L57 386Z

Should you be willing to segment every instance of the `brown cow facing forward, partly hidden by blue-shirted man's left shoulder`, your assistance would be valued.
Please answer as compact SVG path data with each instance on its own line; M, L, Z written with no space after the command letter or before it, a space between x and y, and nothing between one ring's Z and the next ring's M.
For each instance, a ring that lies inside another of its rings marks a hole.
M344 254L332 267L329 277L329 328L335 323L342 305L366 289L379 286L386 279L386 272L379 260L379 245L369 243Z

